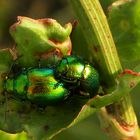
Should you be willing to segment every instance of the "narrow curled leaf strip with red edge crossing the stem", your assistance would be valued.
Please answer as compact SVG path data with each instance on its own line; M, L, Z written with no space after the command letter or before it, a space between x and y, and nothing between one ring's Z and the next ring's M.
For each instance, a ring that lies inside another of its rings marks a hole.
M101 108L119 101L123 96L130 93L140 83L140 65L134 71L124 71L118 79L118 85L114 91L104 96L97 96L95 99L89 101L89 105L94 108Z

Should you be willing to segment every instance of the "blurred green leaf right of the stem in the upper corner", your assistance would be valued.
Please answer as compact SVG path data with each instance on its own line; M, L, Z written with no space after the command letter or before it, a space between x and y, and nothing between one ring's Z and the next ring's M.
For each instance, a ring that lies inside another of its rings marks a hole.
M109 11L109 24L124 68L140 62L140 1L117 1Z

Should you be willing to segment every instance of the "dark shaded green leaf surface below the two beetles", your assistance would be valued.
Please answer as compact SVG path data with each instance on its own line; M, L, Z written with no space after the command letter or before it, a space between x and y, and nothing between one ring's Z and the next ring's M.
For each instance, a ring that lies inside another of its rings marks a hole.
M25 131L36 140L52 137L67 127L87 101L73 97L70 102L40 110L28 101L9 96L8 94L7 102L4 102L5 98L0 95L0 129L8 133Z

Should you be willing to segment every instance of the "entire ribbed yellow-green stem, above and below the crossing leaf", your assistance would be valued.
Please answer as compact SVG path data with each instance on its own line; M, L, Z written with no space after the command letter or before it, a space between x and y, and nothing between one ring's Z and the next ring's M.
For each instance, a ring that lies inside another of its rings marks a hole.
M79 19L88 46L92 49L91 53L93 52L92 55L99 67L105 84L104 88L109 94L111 93L110 89L116 84L116 77L122 72L122 66L106 16L98 0L70 0L70 2ZM94 49L95 46L97 49ZM137 133L139 128L136 115L128 93L121 101L113 103L103 110L101 109L100 116L104 116L100 117L102 124L105 123L103 125L104 129L108 129L108 126L111 126L109 134L113 134L112 136L116 139L140 139L140 135ZM131 130L129 129L130 126L133 126Z

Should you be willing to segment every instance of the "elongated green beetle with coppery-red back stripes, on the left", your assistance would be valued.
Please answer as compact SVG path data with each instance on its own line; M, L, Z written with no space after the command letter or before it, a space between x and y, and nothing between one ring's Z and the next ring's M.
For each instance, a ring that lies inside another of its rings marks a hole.
M69 91L64 88L63 83L54 77L54 70L49 68L24 69L19 74L7 78L5 90L12 92L19 99L45 106L64 101Z

